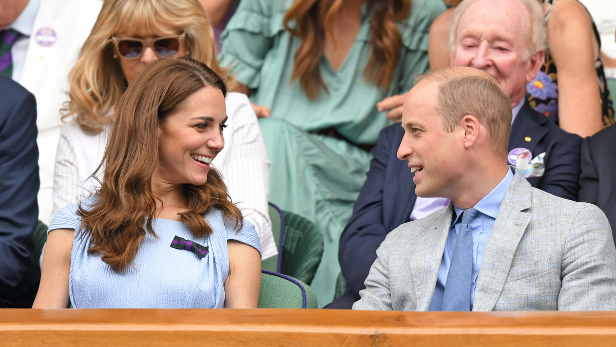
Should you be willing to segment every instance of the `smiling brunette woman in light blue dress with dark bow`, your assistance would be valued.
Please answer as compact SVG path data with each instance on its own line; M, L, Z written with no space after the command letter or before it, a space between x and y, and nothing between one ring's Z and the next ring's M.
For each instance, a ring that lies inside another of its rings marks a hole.
M34 308L256 308L259 237L209 165L224 147L226 93L188 58L137 76L101 188L49 227Z

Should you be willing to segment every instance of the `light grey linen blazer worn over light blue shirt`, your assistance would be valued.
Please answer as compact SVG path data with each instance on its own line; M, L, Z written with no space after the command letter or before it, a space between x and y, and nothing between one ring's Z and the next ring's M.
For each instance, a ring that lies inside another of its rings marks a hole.
M397 227L353 309L428 311L453 205ZM533 188L516 170L479 269L473 311L614 310L616 249L605 214Z

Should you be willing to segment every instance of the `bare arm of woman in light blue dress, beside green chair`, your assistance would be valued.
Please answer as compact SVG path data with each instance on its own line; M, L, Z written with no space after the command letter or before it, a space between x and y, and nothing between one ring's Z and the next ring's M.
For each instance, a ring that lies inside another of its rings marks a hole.
M246 243L229 240L227 245L229 276L225 282L225 308L257 308L261 287L261 255Z

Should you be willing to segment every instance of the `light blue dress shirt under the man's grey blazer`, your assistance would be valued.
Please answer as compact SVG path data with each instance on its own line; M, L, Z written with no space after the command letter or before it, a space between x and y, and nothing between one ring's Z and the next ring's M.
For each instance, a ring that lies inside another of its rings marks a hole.
M485 245L488 243L490 234L492 234L492 227L496 221L496 214L500 208L509 185L513 181L513 172L511 169L507 171L505 178L492 189L492 191L485 195L477 205L473 206L479 214L471 222L472 231L472 285L471 285L471 308L475 299L475 288L477 287L477 277L479 277L479 269L481 268L481 261L484 258ZM430 303L430 311L440 311L443 303L443 293L445 290L445 282L447 282L447 273L449 271L449 265L452 261L453 247L455 246L458 232L460 231L461 219L460 216L463 209L453 205L455 210L455 217L452 221L452 227L449 229L449 235L447 235L447 243L445 243L445 251L443 252L443 259L440 261L439 276L436 280L436 288L434 288L434 295L432 295L432 302Z

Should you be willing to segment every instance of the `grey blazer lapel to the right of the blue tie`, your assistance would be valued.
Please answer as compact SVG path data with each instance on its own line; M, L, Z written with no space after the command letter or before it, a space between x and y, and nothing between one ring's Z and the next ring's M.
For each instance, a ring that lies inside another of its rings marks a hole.
M479 269L472 311L492 311L503 291L517 245L529 224L532 187L517 171L501 203Z

